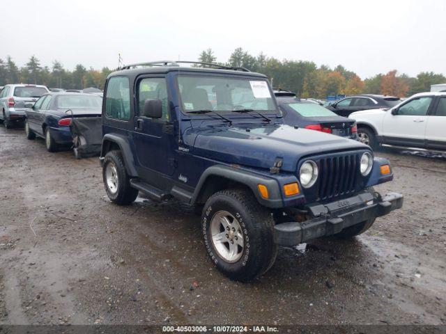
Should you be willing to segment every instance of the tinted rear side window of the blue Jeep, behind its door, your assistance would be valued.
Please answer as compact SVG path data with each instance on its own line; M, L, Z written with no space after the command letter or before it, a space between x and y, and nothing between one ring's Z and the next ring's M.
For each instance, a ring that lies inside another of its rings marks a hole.
M105 116L116 120L130 119L130 81L127 77L112 77L105 93Z

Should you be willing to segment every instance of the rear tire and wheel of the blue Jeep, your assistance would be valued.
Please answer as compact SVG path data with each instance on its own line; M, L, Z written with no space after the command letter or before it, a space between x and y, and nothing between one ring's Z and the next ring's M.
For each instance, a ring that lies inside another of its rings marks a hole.
M130 177L125 170L120 151L113 150L105 155L102 180L107 196L116 204L129 205L138 197L138 189L130 186Z

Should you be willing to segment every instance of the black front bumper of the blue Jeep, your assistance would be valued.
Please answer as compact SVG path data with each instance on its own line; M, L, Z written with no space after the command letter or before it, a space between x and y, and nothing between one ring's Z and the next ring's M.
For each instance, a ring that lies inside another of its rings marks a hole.
M309 205L309 214L314 218L301 223L289 222L275 225L275 243L280 246L295 246L312 239L336 234L369 218L384 216L403 206L400 193L374 196L364 191L357 196L331 202L326 205Z

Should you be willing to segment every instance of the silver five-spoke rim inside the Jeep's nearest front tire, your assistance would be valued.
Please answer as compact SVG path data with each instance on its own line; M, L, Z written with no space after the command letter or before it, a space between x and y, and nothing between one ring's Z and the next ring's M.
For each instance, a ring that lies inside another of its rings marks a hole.
M227 211L215 213L210 221L210 236L218 255L229 263L243 255L243 232L237 219Z

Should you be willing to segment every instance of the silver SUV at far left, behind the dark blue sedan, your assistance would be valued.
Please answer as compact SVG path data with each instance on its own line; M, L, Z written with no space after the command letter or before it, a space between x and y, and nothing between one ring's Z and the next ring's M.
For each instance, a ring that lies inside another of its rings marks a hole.
M6 85L0 92L0 121L7 129L15 122L25 118L25 104L34 103L37 99L49 93L42 85Z

